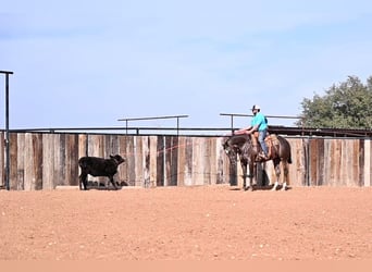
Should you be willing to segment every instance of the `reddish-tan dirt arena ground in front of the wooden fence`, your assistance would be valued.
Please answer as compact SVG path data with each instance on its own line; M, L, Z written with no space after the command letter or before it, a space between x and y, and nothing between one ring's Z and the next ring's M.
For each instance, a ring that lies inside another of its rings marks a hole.
M372 188L0 190L0 260L367 260Z

